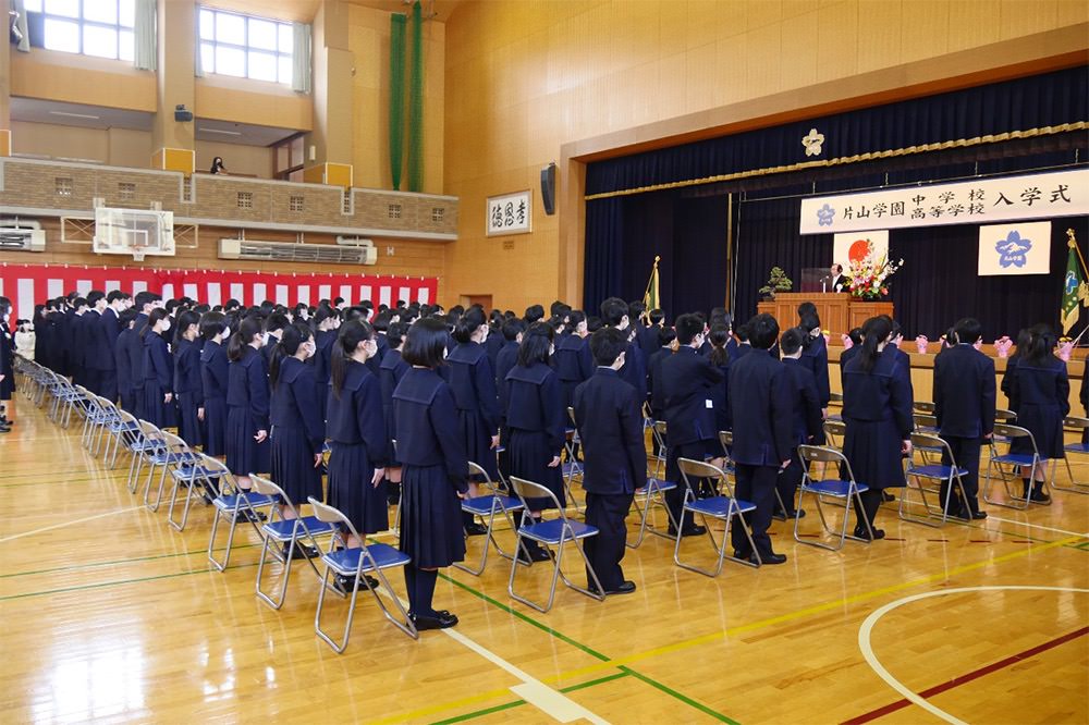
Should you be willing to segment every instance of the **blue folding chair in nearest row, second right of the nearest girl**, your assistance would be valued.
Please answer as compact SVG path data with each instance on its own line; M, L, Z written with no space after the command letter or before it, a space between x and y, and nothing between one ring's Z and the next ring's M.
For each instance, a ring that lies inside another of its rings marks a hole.
M744 514L756 511L756 504L749 501L743 501L734 495L734 489L730 484L730 480L726 478L726 474L723 469L712 466L705 460L696 460L694 458L678 458L677 467L681 469L681 477L684 479L686 490L684 494L684 511L690 514L698 515L703 523L703 528L707 530L707 537L711 541L711 548L718 555L718 563L714 569L705 569L695 564L686 564L681 561L681 539L684 538L684 531L682 527L676 527L676 543L673 546L673 562L683 569L688 569L689 572L696 572L708 577L717 577L722 572L722 565L725 560L731 560L737 562L738 564L744 564L745 566L757 567L762 564L760 560L760 552L756 550L756 544L752 542L752 533L749 531L748 526L745 524ZM707 479L713 481L713 488L718 495L713 495L707 499L696 497L696 483L692 479ZM725 489L726 495L722 495L721 491ZM715 541L714 532L711 531L711 527L708 519L715 519L723 521L725 524L725 529L722 532L721 544ZM738 519L737 526L742 527L745 531L745 538L748 539L749 549L756 556L757 563L752 563L746 558L738 558L733 554L727 555L726 550L732 546L730 542L730 527L734 523L734 519Z

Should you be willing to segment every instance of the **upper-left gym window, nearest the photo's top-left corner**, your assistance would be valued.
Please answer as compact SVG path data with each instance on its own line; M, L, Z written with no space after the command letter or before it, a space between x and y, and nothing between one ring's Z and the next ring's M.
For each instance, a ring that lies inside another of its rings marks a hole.
M42 42L49 50L131 61L136 51L136 0L25 0L28 13L42 15Z

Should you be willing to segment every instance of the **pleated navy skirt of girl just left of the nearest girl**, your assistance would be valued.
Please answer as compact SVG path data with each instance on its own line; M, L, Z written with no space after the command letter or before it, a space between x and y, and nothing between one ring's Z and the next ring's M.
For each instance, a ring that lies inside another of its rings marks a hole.
M367 456L367 446L335 442L329 446L329 505L347 516L359 533L378 533L390 528L388 486L384 480L377 487L370 484L375 468Z

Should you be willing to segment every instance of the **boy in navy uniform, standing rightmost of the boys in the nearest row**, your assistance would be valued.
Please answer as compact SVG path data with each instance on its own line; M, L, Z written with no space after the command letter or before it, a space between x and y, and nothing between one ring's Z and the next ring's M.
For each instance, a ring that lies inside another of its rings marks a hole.
M934 415L938 432L950 444L967 501L951 497L949 514L983 519L979 509L979 448L994 430L994 360L972 345L982 339L979 320L966 317L953 325L956 344L934 358ZM949 462L943 462L949 465ZM942 504L945 486L942 486Z

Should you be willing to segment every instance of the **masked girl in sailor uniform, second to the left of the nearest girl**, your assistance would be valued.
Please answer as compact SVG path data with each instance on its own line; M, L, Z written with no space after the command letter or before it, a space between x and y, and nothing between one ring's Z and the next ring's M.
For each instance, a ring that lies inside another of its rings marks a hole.
M326 426L318 413L314 367L306 365L314 349L309 325L305 322L290 324L283 329L272 351L269 368L272 480L296 505L309 496L321 501L321 450L326 443ZM281 506L280 511L284 518L293 518L286 506Z

